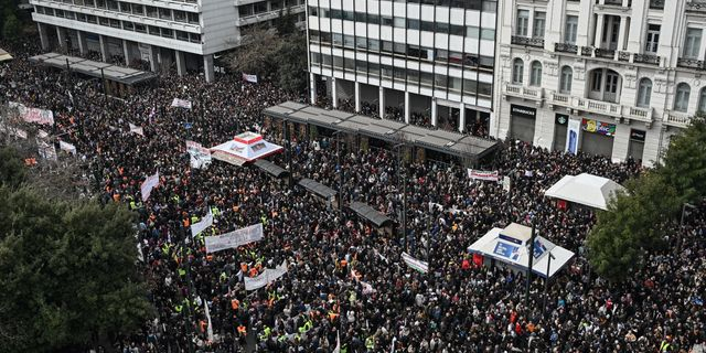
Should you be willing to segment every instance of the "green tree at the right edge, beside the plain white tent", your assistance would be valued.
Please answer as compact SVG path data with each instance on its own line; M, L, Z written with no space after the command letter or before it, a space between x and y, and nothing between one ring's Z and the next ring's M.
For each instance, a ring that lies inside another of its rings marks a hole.
M664 248L682 205L706 196L703 117L694 117L686 130L672 138L662 162L629 181L628 192L612 199L607 212L598 213L588 236L592 267L611 281L630 278L648 254Z

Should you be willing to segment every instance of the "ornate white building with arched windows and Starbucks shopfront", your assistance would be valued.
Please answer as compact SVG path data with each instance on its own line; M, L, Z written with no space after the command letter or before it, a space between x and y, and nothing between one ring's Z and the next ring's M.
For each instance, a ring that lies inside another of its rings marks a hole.
M491 135L651 165L706 110L705 3L506 0L499 12Z

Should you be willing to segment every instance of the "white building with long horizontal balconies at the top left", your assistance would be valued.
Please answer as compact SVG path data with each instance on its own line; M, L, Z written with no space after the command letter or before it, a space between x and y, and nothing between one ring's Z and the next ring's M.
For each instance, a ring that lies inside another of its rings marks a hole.
M42 47L72 47L150 62L152 71L203 69L237 47L242 30L271 22L282 9L304 20L303 0L30 0ZM271 23L270 23L271 24Z

